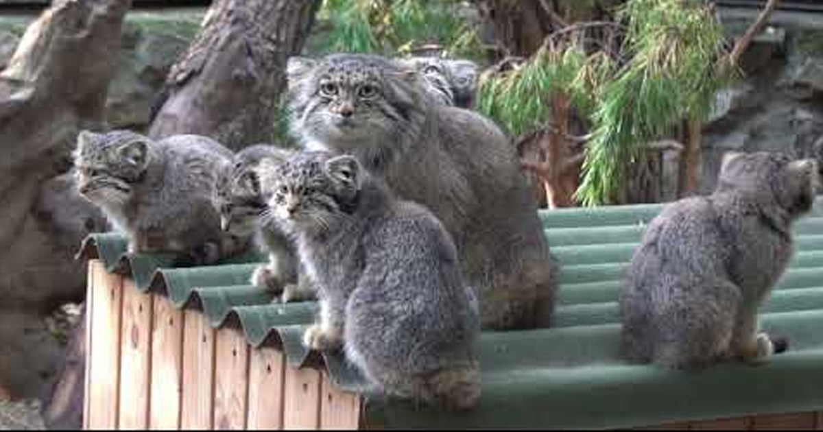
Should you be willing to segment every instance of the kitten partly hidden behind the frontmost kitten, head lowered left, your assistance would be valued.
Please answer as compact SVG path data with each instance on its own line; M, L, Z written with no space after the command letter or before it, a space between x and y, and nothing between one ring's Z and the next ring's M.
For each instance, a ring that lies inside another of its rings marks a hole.
M294 244L276 224L263 219L266 200L260 189L257 169L262 160L281 163L294 151L257 144L237 152L234 163L218 174L213 203L220 211L221 229L246 242L254 242L268 253L269 262L258 267L251 282L281 301L314 299L314 287L302 275Z

